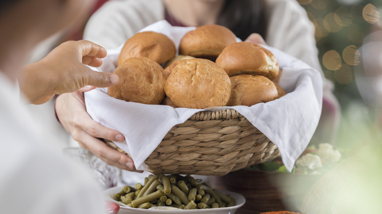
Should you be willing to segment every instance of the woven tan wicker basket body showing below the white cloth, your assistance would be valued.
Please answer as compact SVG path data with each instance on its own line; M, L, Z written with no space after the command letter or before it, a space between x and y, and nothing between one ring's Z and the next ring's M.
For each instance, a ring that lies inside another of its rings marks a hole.
M112 142L112 148L120 150ZM202 111L171 128L144 161L148 171L222 176L279 156L277 147L234 109Z

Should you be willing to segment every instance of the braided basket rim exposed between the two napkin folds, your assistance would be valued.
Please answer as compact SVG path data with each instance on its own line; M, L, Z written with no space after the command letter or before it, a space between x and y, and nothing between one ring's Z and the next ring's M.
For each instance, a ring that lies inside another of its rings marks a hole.
M199 111L194 113L188 120L207 121L207 120L219 120L219 119L235 119L243 117L237 110L226 108L215 111Z

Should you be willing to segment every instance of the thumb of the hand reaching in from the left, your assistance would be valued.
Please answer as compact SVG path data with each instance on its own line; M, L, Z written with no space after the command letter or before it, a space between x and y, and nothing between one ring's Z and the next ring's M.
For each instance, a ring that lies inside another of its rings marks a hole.
M89 75L85 78L85 86L95 87L110 87L118 84L119 77L116 74L97 72L94 70L89 71Z

